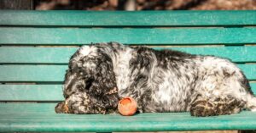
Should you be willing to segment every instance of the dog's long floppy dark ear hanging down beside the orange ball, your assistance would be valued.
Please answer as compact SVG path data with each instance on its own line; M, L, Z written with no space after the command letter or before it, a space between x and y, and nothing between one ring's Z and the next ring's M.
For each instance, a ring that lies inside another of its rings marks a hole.
M98 50L96 54L82 58L81 62L84 73L91 79L91 83L87 83L90 84L88 93L105 108L116 108L119 96L112 58Z

